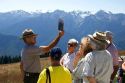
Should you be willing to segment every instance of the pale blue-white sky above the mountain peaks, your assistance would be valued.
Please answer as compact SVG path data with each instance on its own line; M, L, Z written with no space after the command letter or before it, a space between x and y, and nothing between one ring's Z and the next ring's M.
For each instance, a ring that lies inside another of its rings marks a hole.
M0 12L11 10L47 12L60 9L67 12L105 10L113 13L125 13L124 4L125 0L0 0Z

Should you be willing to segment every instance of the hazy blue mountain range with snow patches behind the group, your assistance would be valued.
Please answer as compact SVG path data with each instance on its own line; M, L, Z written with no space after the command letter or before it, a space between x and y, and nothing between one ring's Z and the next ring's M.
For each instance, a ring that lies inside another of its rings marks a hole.
M78 41L80 41L83 36L92 34L95 31L106 31L106 30L113 32L114 42L118 47L118 49L119 50L125 49L124 13L114 14L110 11L105 12L104 10L100 10L95 14L92 14L90 11L65 12L62 10L56 10L54 12L46 12L46 13L42 12L28 13L22 10L18 10L18 11L0 13L0 18L1 18L0 33L9 35L10 40L12 36L15 36L17 38L14 40L18 41L19 40L18 38L22 34L22 31L25 28L31 28L36 33L39 34L38 45L48 45L58 34L58 28L57 28L58 19L62 18L65 23L64 25L65 35L59 42L58 46L62 48L63 52L66 52L67 41L70 38L76 38ZM4 42L6 43L8 41ZM4 45L5 44L2 44L1 48L5 48ZM15 54L19 54L22 45L23 44L20 44L20 46L17 48L18 51L16 51ZM6 49L7 48L8 47L6 47ZM8 52L5 51L5 53Z

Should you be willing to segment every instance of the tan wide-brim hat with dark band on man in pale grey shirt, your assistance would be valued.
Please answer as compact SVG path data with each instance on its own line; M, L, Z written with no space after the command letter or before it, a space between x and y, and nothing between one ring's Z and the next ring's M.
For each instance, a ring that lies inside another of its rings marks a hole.
M104 32L95 32L93 35L88 35L88 37L99 44L109 44L110 42L107 40L106 34Z

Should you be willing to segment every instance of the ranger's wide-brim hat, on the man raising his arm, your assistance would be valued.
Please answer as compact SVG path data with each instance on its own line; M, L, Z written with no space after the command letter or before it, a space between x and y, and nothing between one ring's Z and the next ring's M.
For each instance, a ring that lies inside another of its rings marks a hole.
M22 35L20 36L20 39L24 39L28 36L37 36L38 34L35 34L32 29L25 29L22 32Z

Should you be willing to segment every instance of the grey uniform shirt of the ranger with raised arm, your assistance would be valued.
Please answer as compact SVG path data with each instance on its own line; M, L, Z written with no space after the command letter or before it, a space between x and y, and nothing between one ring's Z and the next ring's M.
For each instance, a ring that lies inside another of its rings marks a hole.
M43 51L40 47L33 45L25 47L21 51L21 61L23 62L23 69L25 72L31 73L40 73L40 55L43 54Z

